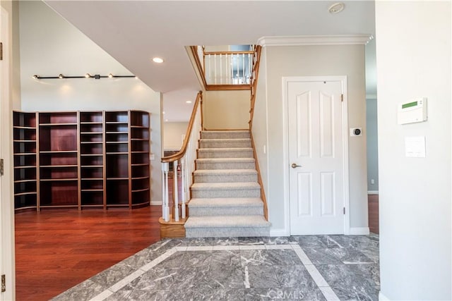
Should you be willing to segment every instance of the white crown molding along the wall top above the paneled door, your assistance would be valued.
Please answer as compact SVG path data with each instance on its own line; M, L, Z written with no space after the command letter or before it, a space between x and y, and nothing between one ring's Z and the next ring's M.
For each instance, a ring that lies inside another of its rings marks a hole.
M305 45L366 45L374 39L372 35L300 35L261 37L257 44L269 46L305 46Z

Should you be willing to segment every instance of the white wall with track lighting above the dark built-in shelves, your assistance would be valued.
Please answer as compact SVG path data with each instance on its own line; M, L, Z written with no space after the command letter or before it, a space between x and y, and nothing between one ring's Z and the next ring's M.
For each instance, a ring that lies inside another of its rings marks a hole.
M20 1L23 111L138 109L150 112L151 200L162 200L160 93L136 78L35 80L32 75L130 75L109 54L41 1ZM133 55L133 54L131 54Z

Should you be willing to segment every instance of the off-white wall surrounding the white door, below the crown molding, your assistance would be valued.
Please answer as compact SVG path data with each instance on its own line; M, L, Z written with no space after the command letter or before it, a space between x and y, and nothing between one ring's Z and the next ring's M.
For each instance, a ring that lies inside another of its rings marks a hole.
M267 162L263 178L268 176L266 197L273 233L288 234L285 220L284 175L288 166L283 162L283 76L347 75L348 125L361 127L366 133L366 99L364 82L364 46L294 46L264 47L266 73L259 72L253 135L258 153L267 147ZM266 78L265 86L262 85ZM265 107L266 104L266 107ZM268 120L267 127L261 123ZM266 132L266 133L263 133ZM267 137L267 140L266 140ZM367 229L366 138L349 137L350 226ZM262 156L265 160L265 156ZM261 168L263 169L263 168Z

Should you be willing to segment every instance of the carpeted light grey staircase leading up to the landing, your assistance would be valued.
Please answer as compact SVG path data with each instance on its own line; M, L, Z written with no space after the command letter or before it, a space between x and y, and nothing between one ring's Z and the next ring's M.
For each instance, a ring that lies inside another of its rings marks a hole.
M187 238L268 236L248 130L201 132Z

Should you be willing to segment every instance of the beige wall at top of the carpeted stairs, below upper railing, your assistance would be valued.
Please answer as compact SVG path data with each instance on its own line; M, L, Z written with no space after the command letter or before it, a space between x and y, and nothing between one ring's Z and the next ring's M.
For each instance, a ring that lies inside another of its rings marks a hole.
M207 130L248 129L250 97L249 90L205 92L204 127Z

